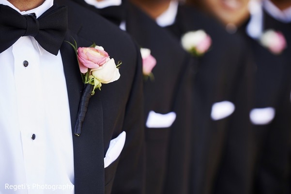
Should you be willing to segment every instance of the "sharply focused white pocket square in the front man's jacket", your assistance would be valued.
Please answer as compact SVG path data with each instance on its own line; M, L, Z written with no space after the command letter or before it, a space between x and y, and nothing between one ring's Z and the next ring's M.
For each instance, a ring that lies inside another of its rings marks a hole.
M110 141L109 148L104 158L104 168L114 162L123 150L126 133L123 131L118 137Z

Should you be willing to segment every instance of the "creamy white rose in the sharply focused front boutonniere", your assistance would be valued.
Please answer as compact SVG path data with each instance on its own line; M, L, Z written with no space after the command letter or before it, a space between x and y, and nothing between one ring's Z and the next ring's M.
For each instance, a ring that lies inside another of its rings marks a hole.
M91 74L101 83L110 83L120 78L119 69L116 68L114 59L108 60L97 69L91 69Z

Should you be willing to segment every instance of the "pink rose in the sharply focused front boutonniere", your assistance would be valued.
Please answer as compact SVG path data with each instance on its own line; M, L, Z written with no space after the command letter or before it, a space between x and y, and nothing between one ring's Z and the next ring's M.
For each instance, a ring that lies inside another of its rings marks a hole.
M88 68L97 69L100 65L105 64L109 58L103 47L98 46L95 48L80 47L77 49L77 53L81 73L87 73Z

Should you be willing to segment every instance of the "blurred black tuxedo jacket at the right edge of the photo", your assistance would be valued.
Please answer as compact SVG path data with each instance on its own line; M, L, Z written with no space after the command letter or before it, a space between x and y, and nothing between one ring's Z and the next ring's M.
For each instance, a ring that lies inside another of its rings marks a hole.
M254 194L289 194L291 180L291 23L282 23L264 12L263 31L284 34L287 49L274 55L252 41L256 60L256 107L273 107L275 118L256 126Z

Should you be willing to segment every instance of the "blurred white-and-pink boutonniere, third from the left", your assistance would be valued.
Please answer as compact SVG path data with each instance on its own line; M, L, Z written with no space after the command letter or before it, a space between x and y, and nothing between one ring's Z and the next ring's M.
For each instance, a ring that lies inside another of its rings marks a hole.
M203 30L186 32L181 43L183 48L194 56L202 56L209 50L212 40Z

